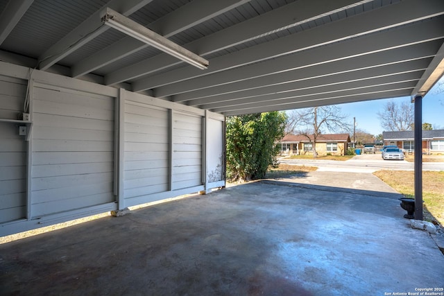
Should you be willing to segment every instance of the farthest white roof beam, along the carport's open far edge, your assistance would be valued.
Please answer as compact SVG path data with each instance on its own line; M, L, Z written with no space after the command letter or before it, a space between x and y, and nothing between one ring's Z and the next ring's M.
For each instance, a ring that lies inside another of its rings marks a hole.
M374 93L374 94L357 94L351 96L344 96L341 98L323 98L320 101L301 101L294 102L287 105L273 105L268 107L258 107L258 108L249 108L243 110L235 110L230 112L224 112L225 116L233 116L233 115L242 115L242 114L253 114L260 112L271 112L271 111L282 111L282 110L292 110L292 109L300 109L307 108L313 106L325 106L325 105L337 105L343 103L354 103L360 101L370 101L377 100L382 98L398 98L400 96L406 96L405 89L393 89L391 91L384 91L382 93Z

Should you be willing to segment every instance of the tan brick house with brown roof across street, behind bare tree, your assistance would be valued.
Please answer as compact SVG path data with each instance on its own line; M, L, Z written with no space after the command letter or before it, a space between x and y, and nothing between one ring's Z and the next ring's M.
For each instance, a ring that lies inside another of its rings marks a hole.
M309 137L303 134L287 134L280 141L282 154L313 154L314 137L313 135ZM344 155L348 143L350 143L349 134L319 134L316 139L316 153L318 155L327 155L327 153Z

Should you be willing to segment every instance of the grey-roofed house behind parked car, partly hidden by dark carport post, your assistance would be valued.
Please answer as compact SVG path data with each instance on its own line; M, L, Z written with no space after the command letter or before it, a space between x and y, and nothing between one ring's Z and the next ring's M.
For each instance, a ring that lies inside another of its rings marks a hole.
M415 152L415 138L412 130L403 132L383 132L384 145L396 145L404 153ZM444 130L422 130L422 153L444 153Z

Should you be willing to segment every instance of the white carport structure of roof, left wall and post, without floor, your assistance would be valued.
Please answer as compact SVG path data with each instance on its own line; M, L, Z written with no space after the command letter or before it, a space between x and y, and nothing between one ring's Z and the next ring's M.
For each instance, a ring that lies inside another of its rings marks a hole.
M0 0L0 235L225 186L225 116L411 96L420 143L443 40L442 0Z

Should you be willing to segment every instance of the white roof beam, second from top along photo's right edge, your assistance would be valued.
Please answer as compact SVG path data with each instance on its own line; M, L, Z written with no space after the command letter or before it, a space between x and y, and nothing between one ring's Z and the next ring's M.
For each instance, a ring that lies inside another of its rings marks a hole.
M214 73L211 76L203 76L194 78L193 80L178 82L167 87L155 89L154 95L162 97L180 92L191 92L196 89L230 84L241 80L259 78L261 76L271 76L271 74L289 70L300 69L300 71L305 71L307 67L313 67L316 64L347 60L361 55L408 47L413 44L437 40L443 37L444 17L440 17L432 21L418 22L410 26L402 26L390 31L383 31L366 37L354 38L346 42L321 46L310 51L284 55L273 60L250 64L246 67ZM377 61L374 62L377 63Z

